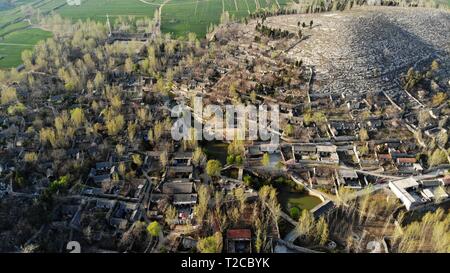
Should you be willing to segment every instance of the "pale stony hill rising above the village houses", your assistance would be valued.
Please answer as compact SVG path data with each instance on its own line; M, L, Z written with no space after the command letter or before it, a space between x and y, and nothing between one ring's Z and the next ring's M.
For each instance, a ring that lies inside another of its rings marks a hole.
M364 7L345 12L287 15L267 25L297 33L313 20L289 52L315 67L315 93L397 94L400 73L439 59L449 67L450 13L423 8Z

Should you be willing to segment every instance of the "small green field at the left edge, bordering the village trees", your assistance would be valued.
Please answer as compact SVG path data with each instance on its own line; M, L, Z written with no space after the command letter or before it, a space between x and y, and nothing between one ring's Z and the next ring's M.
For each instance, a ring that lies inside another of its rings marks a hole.
M0 41L0 67L9 68L18 66L22 63L21 54L23 50L33 49L38 41L51 36L51 32L36 28L7 34Z

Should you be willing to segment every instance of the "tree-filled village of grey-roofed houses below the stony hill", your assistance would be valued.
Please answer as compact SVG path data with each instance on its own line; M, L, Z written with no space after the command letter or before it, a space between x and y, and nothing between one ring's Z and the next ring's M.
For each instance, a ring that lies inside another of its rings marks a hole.
M448 52L339 84L296 53L323 23L222 17L202 39L157 15L42 19L55 36L0 75L0 249L448 252ZM279 105L280 142L173 140L170 109L196 97Z

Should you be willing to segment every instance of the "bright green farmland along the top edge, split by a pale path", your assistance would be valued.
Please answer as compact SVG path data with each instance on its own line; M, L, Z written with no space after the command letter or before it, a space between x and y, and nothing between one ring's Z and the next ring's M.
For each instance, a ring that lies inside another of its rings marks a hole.
M291 0L84 0L80 6L65 5L57 12L63 17L74 20L94 19L105 21L106 15L114 19L117 16L153 17L155 10L164 2L161 20L162 31L175 36L185 36L195 32L199 36L206 34L208 26L220 21L223 11L235 18L242 18L254 12L258 7L286 5Z

